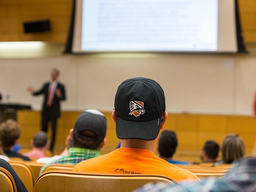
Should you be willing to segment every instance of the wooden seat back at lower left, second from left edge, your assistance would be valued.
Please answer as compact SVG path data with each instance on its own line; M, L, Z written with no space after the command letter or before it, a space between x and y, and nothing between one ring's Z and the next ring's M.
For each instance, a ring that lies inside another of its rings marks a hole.
M33 192L34 178L31 168L24 162L10 161L11 166L14 168L29 192Z

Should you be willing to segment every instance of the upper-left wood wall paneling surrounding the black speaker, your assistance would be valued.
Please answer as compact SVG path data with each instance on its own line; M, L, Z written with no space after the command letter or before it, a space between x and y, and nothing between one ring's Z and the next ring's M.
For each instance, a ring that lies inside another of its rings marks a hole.
M1 0L0 41L66 42L72 0ZM24 34L23 22L49 19L51 31Z

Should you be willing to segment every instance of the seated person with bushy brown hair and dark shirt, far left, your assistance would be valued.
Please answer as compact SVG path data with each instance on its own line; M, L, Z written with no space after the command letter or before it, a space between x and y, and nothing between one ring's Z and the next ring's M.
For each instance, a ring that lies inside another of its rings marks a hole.
M11 150L12 146L14 146L16 141L20 138L20 132L20 125L12 119L6 120L6 122L0 124L0 140L4 148L4 153L8 157L18 157L29 161L30 159L28 157L12 152Z

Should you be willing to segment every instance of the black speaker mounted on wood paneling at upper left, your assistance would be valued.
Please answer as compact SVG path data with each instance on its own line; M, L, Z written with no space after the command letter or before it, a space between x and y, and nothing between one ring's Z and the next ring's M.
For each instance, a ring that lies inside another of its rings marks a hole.
M37 20L24 22L25 33L47 32L50 31L50 20Z

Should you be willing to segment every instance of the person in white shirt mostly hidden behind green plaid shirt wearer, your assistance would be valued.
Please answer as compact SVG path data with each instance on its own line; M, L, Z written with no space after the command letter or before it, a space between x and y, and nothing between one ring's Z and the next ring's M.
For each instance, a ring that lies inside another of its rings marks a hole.
M36 160L37 163L49 163L54 160L57 160L61 157L68 156L68 150L73 146L73 140L71 140L70 135L66 137L65 140L66 147L64 148L63 152L60 155L54 155L52 157L41 157L38 160Z

